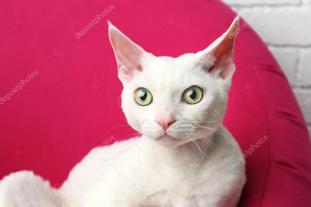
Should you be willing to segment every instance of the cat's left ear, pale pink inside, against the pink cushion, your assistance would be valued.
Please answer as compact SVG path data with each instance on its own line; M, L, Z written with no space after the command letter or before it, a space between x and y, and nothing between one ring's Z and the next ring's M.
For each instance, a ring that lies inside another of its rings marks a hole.
M127 84L136 71L142 71L141 59L148 53L108 21L109 39L118 64L118 77Z

